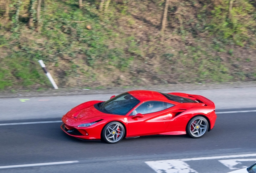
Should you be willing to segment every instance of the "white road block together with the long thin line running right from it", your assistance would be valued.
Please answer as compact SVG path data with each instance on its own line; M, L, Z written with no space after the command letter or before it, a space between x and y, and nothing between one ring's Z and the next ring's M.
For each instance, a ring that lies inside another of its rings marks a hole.
M189 159L173 159L173 160L162 160L162 161L148 161L145 162L149 167L151 167L157 173L197 173L194 169L184 161L196 161L196 160L209 160L209 159L226 159L226 158L236 158L236 157L254 157L255 154L244 154L244 155L226 155L226 156L214 156L214 157L197 157ZM241 159L240 159L241 160ZM178 162L180 161L180 162ZM178 172L179 171L179 172ZM194 171L194 172L193 172Z

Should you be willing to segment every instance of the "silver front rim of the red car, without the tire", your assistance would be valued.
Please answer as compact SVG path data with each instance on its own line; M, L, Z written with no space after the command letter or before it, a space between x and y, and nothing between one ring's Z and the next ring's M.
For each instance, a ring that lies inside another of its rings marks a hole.
M110 143L116 143L123 138L124 129L119 124L110 124L105 130L105 139Z

